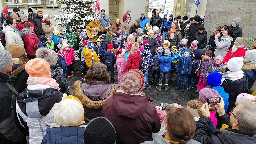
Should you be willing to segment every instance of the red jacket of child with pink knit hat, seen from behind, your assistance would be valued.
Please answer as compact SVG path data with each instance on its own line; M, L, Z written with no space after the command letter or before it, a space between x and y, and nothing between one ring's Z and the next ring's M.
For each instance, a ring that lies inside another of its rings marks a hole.
M141 61L141 55L140 52L137 51L136 53L131 52L126 64L126 69L140 69L140 61Z

